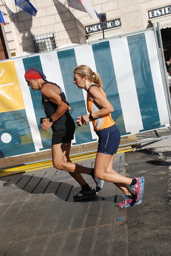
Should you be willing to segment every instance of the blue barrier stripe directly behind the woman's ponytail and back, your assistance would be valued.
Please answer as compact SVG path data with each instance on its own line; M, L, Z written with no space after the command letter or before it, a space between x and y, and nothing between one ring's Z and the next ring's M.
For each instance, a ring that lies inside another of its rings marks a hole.
M118 125L121 135L126 135L121 102L118 93L118 86L115 78L115 70L113 67L112 55L110 51L109 41L93 44L93 54L97 72L100 74L103 82L103 90L107 95L107 99L111 102L114 112L112 118Z

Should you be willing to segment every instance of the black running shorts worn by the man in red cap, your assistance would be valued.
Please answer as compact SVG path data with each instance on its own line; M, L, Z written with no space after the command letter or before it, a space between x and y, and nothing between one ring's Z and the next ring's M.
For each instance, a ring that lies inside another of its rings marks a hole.
M70 122L70 125L64 126L63 130L54 131L52 135L52 145L71 142L74 138L74 132L76 125L74 121Z

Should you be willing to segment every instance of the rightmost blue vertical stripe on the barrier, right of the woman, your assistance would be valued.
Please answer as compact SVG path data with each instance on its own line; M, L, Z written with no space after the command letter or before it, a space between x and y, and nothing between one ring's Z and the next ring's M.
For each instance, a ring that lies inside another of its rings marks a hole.
M160 117L151 75L145 34L141 33L128 36L127 41L143 122L143 130L141 131L159 128Z

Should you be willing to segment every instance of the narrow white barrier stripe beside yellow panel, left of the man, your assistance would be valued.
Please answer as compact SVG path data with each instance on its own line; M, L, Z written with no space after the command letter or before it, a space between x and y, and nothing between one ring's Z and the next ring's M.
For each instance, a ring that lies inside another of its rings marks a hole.
M22 97L23 97L24 105L25 105L25 112L27 115L28 123L30 125L34 147L37 152L37 151L39 151L40 148L43 148L43 145L42 145L42 140L41 140L40 133L39 133L39 128L38 128L37 122L36 122L36 116L34 113L34 107L33 107L33 102L31 99L30 90L29 90L29 87L27 86L27 83L24 78L25 69L24 69L24 65L22 62L22 58L16 58L14 60L14 63L15 63L15 67L17 70L17 76L18 76L21 91L22 91Z

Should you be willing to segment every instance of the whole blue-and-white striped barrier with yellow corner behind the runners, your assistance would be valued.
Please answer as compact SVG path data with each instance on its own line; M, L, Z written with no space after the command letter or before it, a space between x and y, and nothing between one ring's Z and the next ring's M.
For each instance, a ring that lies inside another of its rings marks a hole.
M153 29L50 52L0 61L0 158L51 148L42 131L41 93L32 91L25 70L38 67L64 90L73 119L87 113L86 91L73 84L73 68L86 64L101 75L121 136L169 126L168 108ZM76 127L72 145L97 141L90 122Z

